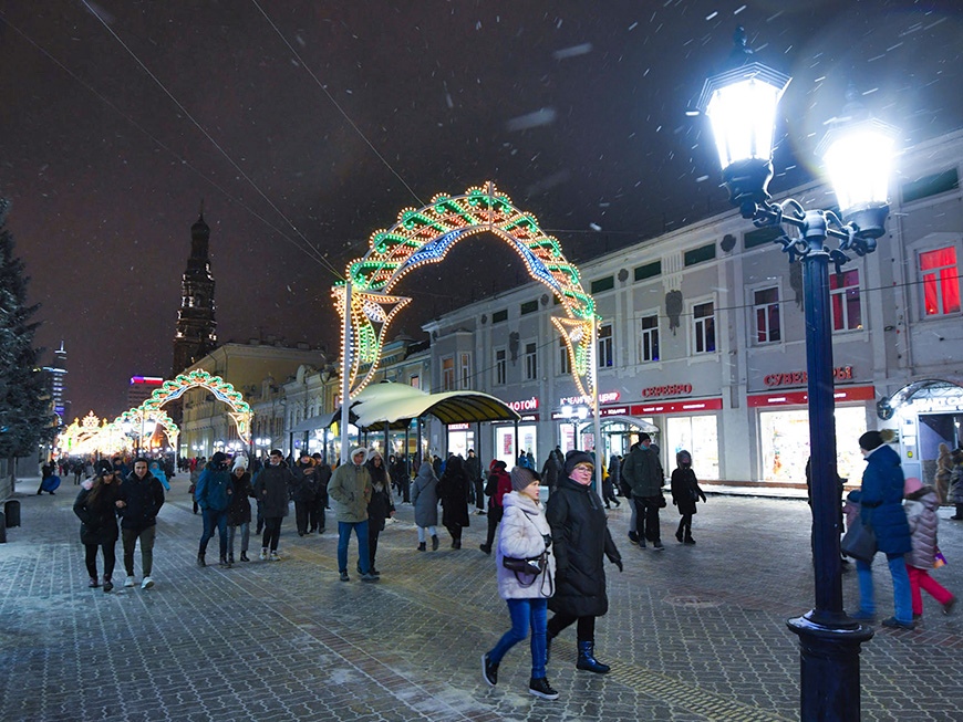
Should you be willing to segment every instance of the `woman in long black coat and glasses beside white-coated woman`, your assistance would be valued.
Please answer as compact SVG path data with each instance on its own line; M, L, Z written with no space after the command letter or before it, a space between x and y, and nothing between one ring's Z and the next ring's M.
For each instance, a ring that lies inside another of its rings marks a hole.
M548 643L578 622L576 667L604 674L609 666L596 659L596 617L609 610L604 557L622 571L622 557L609 533L605 510L592 490L594 462L584 451L566 454L565 473L549 496L546 517L556 557L556 592L548 600L555 616L548 622Z

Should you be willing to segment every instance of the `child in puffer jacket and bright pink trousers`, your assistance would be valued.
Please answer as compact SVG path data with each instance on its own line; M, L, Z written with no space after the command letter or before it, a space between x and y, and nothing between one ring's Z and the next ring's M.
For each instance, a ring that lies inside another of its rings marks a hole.
M930 576L936 554L936 527L940 517L940 496L933 486L924 486L915 477L907 479L903 485L903 509L910 523L910 536L913 551L907 554L907 572L910 575L910 594L913 601L913 618L923 616L923 595L925 589L943 607L943 614L950 614L956 604L956 597L942 584Z

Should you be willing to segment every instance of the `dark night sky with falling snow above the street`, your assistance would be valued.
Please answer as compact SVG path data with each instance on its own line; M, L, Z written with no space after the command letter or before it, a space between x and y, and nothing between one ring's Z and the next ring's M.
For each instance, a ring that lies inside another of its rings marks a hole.
M776 192L814 177L850 81L904 144L963 125L951 0L0 0L0 196L72 417L169 374L201 202L219 341L331 357L332 282L437 192L494 180L577 262L725 210L685 111L737 24L794 76ZM475 237L396 289L394 328L524 279Z

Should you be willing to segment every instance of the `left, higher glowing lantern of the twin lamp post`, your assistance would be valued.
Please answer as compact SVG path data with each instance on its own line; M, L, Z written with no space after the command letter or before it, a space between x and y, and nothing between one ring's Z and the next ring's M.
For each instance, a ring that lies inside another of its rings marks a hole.
M791 79L748 63L706 80L698 108L712 123L723 179L735 206L766 200L779 98Z

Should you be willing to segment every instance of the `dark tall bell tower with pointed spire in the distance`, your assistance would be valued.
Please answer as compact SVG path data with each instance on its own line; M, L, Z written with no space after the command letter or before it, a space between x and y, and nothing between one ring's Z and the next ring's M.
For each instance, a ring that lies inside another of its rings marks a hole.
M214 276L210 274L208 245L210 228L204 222L204 207L190 227L190 258L180 281L180 311L174 335L172 378L217 347L214 320Z

